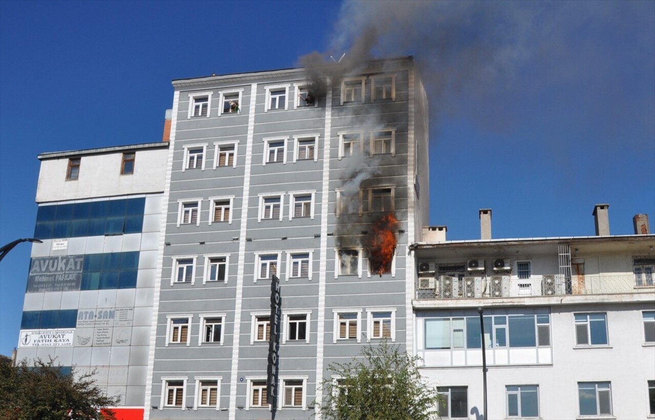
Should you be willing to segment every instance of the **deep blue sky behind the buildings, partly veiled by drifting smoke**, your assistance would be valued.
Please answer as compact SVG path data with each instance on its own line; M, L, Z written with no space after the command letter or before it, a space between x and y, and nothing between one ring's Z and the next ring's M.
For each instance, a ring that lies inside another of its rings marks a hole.
M358 43L372 27L370 43ZM160 141L172 79L312 51L413 54L430 100L430 223L448 239L655 225L655 2L0 1L0 244L33 235L41 152ZM0 266L18 341L29 245Z

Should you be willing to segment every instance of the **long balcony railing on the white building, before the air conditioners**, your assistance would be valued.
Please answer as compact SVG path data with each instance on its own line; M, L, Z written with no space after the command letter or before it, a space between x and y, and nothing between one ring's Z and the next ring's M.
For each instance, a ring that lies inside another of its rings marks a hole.
M540 275L517 279L507 275L490 277L419 277L416 299L527 298L607 293L655 292L652 280L630 275Z

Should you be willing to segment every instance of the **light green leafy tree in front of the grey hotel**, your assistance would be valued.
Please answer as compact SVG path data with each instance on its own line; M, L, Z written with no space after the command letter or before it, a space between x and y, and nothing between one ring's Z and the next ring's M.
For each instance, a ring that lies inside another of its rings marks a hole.
M436 419L440 396L421 377L419 360L386 342L364 347L351 362L328 366L339 379L323 381L317 409L333 420Z

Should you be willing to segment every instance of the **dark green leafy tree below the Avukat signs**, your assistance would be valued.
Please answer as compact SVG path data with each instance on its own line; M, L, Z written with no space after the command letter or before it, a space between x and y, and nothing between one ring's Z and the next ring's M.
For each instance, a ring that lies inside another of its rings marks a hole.
M118 399L94 385L93 375L64 374L54 360L0 360L0 420L109 420ZM101 411L102 410L102 411Z

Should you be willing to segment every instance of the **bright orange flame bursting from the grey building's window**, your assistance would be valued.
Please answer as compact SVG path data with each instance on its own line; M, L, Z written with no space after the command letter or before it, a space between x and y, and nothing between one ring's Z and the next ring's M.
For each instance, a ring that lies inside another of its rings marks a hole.
M391 261L396 251L396 228L398 219L393 213L386 213L379 220L373 222L369 234L369 262L371 271L382 275L391 271Z

